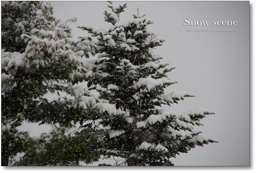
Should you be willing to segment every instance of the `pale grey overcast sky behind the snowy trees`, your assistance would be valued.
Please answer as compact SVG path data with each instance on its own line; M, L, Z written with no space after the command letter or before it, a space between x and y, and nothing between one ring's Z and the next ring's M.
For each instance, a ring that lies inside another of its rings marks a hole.
M196 95L163 109L177 114L198 107L216 112L202 120L204 126L195 129L203 131L201 135L218 139L219 143L197 146L173 158L172 163L176 166L249 165L249 2L113 2L114 5L124 3L127 8L121 13L120 23L132 18L139 7L140 14L146 14L154 21L148 29L166 40L153 53L163 55L161 62L176 67L168 76L178 80L178 84L169 86L165 94L186 91ZM78 19L76 23L70 23L75 39L78 35L88 36L87 31L76 28L77 25L105 29L111 26L104 22L103 15L104 10L110 11L108 2L52 1L51 4L54 16L64 20ZM207 26L184 26L188 24L185 18L209 23ZM234 23L236 26L213 26L213 21L237 23ZM235 32L198 32L195 29ZM22 128L31 131L32 136L38 136L44 126L40 130L38 125Z

